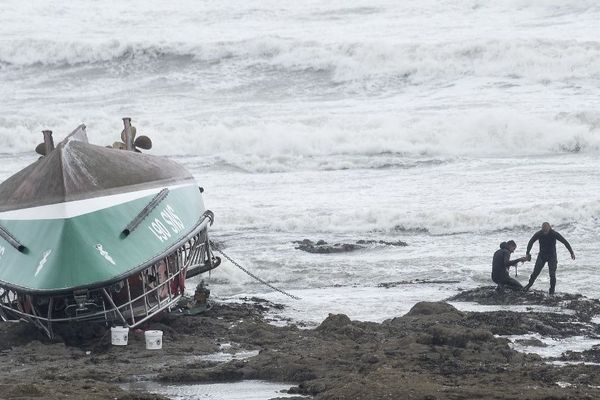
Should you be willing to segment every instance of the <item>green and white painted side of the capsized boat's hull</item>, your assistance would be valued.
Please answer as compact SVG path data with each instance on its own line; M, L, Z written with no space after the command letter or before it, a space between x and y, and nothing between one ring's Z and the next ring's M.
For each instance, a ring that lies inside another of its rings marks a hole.
M162 189L62 203L64 210L106 204L72 217L61 218L60 208L49 206L0 213L0 225L25 246L20 252L0 244L0 285L27 292L98 287L156 262L194 232L206 211L196 185L171 187L140 225L123 235L126 225ZM137 196L141 197L121 203ZM38 218L20 219L32 214Z

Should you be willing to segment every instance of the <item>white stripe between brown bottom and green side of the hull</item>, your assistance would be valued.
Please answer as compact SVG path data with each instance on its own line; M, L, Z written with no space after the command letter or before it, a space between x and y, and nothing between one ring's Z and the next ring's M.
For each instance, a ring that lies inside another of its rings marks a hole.
M167 186L169 190L175 190L182 187L195 186L195 184L179 184ZM78 217L80 215L93 213L105 208L110 208L124 204L133 200L141 199L146 196L157 194L164 187L154 189L144 189L136 192L127 192L113 194L110 196L94 197L85 200L74 200L64 203L49 204L46 206L22 208L20 210L11 210L0 213L0 220L37 220L37 219L67 219Z

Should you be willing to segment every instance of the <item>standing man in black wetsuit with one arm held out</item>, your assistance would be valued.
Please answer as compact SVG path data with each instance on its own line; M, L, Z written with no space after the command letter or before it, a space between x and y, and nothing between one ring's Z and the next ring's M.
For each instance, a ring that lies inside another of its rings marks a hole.
M548 263L548 272L550 273L550 294L554 294L554 288L556 287L556 267L558 266L558 259L556 257L556 241L558 240L562 244L565 245L569 253L571 253L571 258L575 259L575 253L571 248L567 239L562 237L562 235L555 230L552 229L548 222L544 222L542 224L542 229L536 232L529 243L527 244L527 258L531 259L531 247L533 243L537 240L540 242L540 252L538 253L538 257L535 260L535 267L533 268L533 272L529 277L529 283L527 286L523 288L523 290L529 290L533 285L533 282L537 279L540 272L542 272L542 268L544 268L544 264Z

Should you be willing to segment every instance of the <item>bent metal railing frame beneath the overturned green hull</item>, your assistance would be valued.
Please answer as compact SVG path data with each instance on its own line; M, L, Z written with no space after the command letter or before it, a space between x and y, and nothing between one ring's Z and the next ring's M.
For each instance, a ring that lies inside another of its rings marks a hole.
M210 211L174 249L136 272L102 286L62 293L32 293L0 287L0 318L24 319L54 337L54 324L95 322L139 326L184 294L185 280L216 268L221 260L210 249Z

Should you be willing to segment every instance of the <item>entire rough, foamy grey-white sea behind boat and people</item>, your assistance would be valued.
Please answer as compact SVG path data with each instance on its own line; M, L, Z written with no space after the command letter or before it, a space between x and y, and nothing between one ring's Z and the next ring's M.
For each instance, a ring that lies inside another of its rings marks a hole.
M381 321L491 284L544 221L577 255L558 245L557 291L597 298L598 21L591 0L4 0L0 180L42 129L106 145L128 116L205 188L226 253L302 300L228 262L216 298Z

